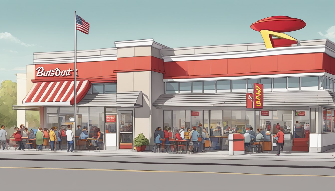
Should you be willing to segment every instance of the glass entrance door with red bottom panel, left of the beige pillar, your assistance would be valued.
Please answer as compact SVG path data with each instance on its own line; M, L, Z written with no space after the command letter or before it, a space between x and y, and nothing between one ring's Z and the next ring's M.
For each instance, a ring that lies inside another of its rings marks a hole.
M133 149L133 111L119 111L119 148Z

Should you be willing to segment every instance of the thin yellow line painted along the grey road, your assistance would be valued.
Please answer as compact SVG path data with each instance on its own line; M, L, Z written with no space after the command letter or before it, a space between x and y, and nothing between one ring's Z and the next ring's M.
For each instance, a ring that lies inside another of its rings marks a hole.
M119 170L119 169L75 169L75 168L40 168L40 167L0 167L2 169L42 169L42 170L78 170L78 171L114 171L114 172L153 172L153 173L197 173L197 174L235 174L235 175L259 175L259 176L313 176L332 177L330 175L284 175L284 174L252 174L252 173L227 173L227 172L192 172L192 171L150 171L150 170Z

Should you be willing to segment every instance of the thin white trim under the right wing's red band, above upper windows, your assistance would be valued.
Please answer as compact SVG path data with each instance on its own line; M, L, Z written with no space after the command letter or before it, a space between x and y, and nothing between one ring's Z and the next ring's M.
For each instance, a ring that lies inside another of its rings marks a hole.
M238 74L236 74L238 75ZM230 76L230 77L213 77L213 78L184 78L184 79L163 79L163 82L187 82L187 81L206 81L206 80L237 80L237 79L254 79L254 78L276 78L276 77L296 77L296 76L323 76L325 72L318 73L295 73L295 74L269 74L269 75L252 75L252 76ZM333 78L335 79L335 75Z

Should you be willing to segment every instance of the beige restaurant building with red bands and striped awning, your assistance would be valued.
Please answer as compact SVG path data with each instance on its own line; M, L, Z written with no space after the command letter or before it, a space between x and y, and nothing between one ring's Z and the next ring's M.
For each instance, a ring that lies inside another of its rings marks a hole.
M156 127L171 127L174 134L181 127L205 128L215 142L228 128L275 133L277 123L285 131L284 150L335 148L335 44L328 39L272 49L264 43L114 43L115 48L77 51L76 72L74 51L34 53L26 74L17 74L18 126L25 110L39 111L43 128L73 124L77 75L77 123L88 127L89 137L100 128L106 150L134 149L139 133L152 149ZM254 83L264 86L263 109L246 108ZM296 121L305 130L295 129Z

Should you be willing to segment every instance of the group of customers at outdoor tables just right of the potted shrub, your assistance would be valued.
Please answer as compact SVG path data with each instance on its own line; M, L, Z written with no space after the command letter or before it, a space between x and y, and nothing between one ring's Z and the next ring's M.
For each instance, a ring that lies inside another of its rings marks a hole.
M175 137L173 137L173 133L171 131L171 127L165 127L164 130L161 130L161 127L157 127L155 132L154 132L154 142L155 145L152 149L152 153L156 151L156 144L161 144L162 141L160 139L165 139L164 144L171 148L172 152L175 149L175 145L171 145L169 138L175 138L176 140L187 140L186 145L189 147L189 151L191 152L191 147L193 147L193 153L196 153L197 150L196 148L199 147L199 144L202 142L202 140L209 139L209 134L206 131L206 128L203 128L203 132L200 132L196 130L197 127L193 126L192 130L188 127L186 131L184 130L184 127L181 127L181 129L176 129L176 134Z

